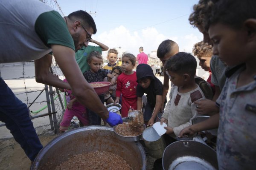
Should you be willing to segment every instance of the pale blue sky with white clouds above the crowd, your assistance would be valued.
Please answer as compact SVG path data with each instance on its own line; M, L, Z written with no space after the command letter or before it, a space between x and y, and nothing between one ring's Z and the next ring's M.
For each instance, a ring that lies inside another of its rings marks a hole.
M166 39L178 43L180 51L191 52L203 39L188 21L198 0L58 0L65 16L73 11L91 12L97 26L93 39L121 47L135 56L139 47L149 54ZM96 14L95 14L96 12ZM93 45L90 43L89 45Z

